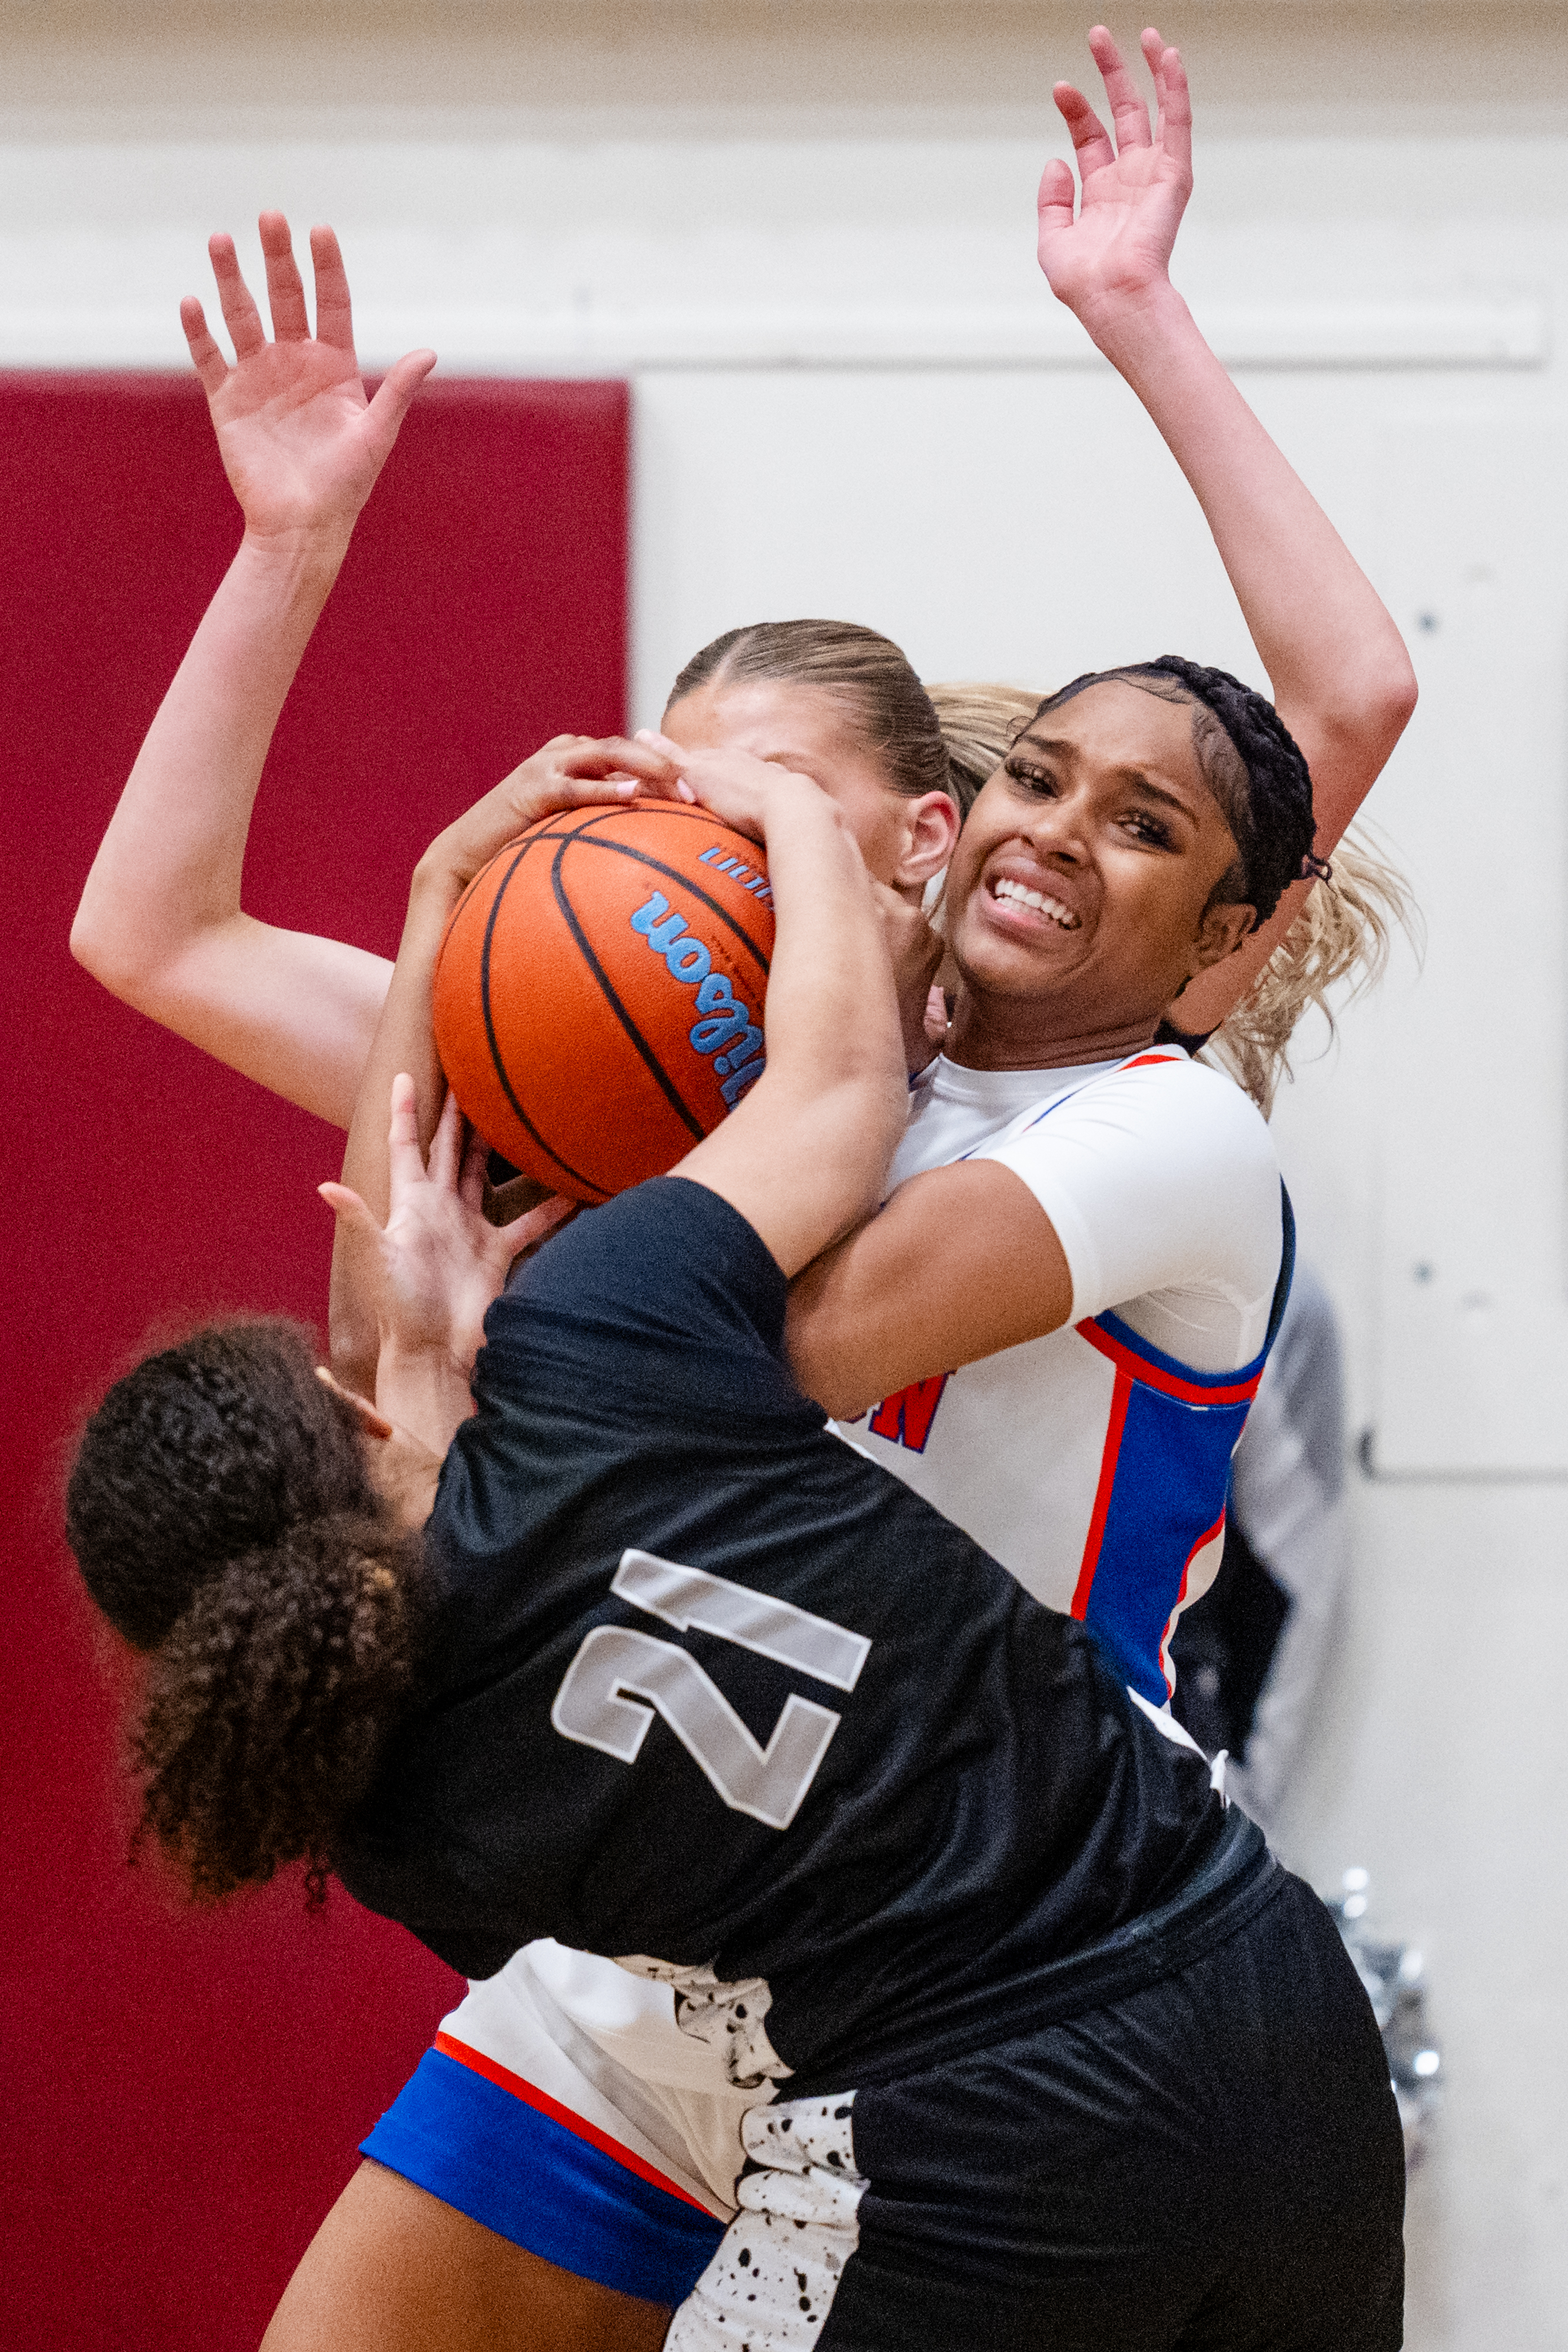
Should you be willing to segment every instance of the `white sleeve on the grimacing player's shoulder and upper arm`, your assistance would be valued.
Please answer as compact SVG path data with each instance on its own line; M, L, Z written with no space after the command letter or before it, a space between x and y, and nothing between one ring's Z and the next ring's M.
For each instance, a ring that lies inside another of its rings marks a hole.
M1279 1162L1239 1087L1138 1056L1023 1112L978 1160L1027 1183L1072 1270L1072 1322L1114 1312L1197 1371L1260 1355L1281 1256Z

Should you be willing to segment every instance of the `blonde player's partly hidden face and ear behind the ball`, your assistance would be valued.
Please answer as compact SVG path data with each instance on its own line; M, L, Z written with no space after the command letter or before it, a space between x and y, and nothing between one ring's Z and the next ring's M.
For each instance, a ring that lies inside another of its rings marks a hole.
M773 677L736 680L682 694L661 724L684 750L748 750L811 776L844 811L865 870L877 882L919 884L947 863L957 830L947 795L912 800L896 793L832 694ZM917 823L919 811L926 811L926 833L940 833L936 849Z

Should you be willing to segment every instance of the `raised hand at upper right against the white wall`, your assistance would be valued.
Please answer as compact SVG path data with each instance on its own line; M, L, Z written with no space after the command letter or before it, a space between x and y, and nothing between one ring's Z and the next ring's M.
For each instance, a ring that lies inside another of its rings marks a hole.
M1180 52L1152 26L1140 45L1154 75L1154 132L1117 42L1098 24L1088 47L1105 82L1114 143L1084 92L1058 82L1056 103L1084 181L1077 219L1072 165L1053 160L1039 181L1039 266L1095 341L1117 303L1147 301L1168 285L1171 247L1192 195L1192 101Z

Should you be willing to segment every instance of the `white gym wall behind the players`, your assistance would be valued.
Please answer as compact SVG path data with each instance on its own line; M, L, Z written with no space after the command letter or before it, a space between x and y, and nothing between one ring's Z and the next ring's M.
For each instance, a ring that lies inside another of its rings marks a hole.
M1084 19L1088 21L1088 19ZM331 219L364 355L635 379L632 696L823 612L924 675L1262 682L1032 261L1084 26L1006 0L0 5L0 365L179 365L202 240ZM1135 21L1117 24L1133 35ZM1568 12L1190 5L1178 282L1422 677L1401 953L1276 1112L1345 1319L1356 1595L1286 1832L1415 1936L1450 2091L1410 2345L1568 2345ZM527 529L527 517L520 517ZM571 713L562 713L562 724ZM527 746L520 746L524 750Z

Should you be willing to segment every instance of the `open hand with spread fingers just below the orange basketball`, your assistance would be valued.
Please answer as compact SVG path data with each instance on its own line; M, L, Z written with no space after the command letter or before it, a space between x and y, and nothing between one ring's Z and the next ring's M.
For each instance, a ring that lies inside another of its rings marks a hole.
M388 1134L393 1207L386 1228L348 1185L324 1183L320 1195L339 1223L364 1244L367 1275L381 1324L383 1367L428 1357L463 1378L484 1338L484 1312L501 1296L508 1270L574 1209L548 1200L510 1225L484 1221L484 1143L463 1138L456 1096L447 1096L430 1164L418 1148L414 1080L393 1080Z

